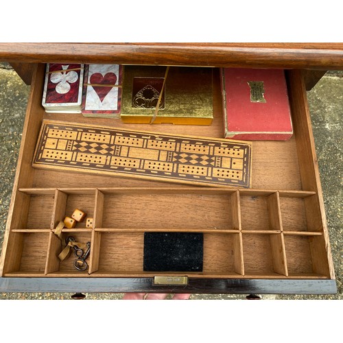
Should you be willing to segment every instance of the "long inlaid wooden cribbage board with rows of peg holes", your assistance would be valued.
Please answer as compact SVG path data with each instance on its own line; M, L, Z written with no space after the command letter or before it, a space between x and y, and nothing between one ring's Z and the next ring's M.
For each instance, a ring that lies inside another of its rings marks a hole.
M43 121L33 167L204 186L251 187L252 144Z

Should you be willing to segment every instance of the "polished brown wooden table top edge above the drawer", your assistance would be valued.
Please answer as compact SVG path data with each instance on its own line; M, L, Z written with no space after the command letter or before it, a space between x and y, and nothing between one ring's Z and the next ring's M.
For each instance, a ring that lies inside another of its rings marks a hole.
M0 43L0 61L343 69L343 43Z

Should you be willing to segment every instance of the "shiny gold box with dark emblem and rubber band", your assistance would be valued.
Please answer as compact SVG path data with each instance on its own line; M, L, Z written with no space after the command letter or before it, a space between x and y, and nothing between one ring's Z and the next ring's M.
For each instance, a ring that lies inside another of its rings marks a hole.
M125 66L121 121L210 125L212 72L200 67Z

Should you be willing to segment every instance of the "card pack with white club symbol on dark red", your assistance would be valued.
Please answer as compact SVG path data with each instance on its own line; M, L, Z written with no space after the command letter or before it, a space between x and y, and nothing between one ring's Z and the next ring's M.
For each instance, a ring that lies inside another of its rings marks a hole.
M84 64L47 63L42 105L47 113L81 113Z

